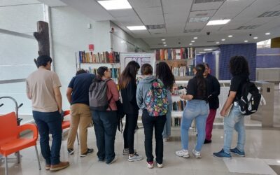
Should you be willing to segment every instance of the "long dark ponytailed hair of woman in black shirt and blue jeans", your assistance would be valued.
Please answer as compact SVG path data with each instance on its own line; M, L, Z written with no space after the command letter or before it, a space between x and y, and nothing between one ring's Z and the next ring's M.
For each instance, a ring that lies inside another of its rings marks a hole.
M203 76L203 73L205 71L204 64L197 64L197 66L195 66L195 70L197 71L197 73L195 73L195 78L197 78L197 96L206 97L207 86L206 86L206 80Z

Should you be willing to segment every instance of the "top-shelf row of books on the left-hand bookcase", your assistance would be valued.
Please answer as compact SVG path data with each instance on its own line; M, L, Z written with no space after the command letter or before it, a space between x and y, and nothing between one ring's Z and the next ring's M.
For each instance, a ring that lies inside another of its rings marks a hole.
M119 52L78 52L80 63L118 63L120 62Z

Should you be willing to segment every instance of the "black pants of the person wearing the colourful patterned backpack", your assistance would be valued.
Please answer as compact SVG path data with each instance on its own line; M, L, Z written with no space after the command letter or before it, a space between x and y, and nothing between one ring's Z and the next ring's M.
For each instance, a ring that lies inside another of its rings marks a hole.
M162 132L165 127L166 116L148 116L148 112L143 110L142 123L145 134L145 152L147 162L153 161L153 128L155 127L155 160L162 164L163 158L163 140Z

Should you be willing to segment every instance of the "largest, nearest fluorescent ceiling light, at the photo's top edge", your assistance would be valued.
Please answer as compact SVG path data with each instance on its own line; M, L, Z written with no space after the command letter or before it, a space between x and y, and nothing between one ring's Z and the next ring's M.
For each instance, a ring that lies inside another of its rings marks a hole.
M97 1L106 10L120 10L132 8L127 0Z

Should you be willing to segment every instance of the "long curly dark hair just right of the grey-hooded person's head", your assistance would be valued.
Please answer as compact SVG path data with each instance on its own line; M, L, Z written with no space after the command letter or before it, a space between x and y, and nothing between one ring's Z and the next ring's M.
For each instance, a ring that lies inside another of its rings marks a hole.
M165 88L172 90L175 83L174 75L166 62L160 62L155 69L155 76L165 85Z

